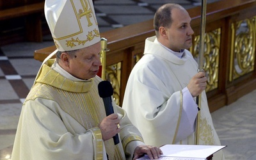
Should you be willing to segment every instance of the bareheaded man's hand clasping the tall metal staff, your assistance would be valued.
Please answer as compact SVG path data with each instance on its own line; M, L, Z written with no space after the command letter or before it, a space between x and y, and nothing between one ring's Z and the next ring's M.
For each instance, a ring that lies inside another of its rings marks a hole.
M207 77L205 77L205 72L198 72L192 79L190 79L188 84L188 90L193 97L196 97L202 93L207 85Z

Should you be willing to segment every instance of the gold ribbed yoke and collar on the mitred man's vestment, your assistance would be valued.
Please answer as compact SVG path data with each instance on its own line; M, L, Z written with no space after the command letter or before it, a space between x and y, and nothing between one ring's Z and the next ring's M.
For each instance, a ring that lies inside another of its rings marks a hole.
M95 97L98 95L97 83L99 82L99 77L90 81L72 81L52 70L51 67L43 65L36 79L35 86L38 86L33 89L36 93L42 93L38 95L39 97L58 102L63 111L76 119L85 129L90 129L99 125L100 117L106 116L103 100L99 96ZM44 84L47 85L44 86ZM45 95L45 92L49 95ZM35 96L31 95L31 97Z

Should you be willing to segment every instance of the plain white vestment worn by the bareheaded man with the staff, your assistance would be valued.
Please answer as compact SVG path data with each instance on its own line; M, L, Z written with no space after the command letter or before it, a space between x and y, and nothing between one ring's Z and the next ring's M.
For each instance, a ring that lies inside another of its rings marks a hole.
M178 58L154 42L155 38L147 38L145 55L132 68L122 108L147 145L194 145L197 105L195 98L191 94L185 97L182 90L197 73L198 65L188 50ZM205 92L200 112L200 145L220 145ZM186 129L192 132L188 134ZM221 159L222 152L217 154L214 159Z

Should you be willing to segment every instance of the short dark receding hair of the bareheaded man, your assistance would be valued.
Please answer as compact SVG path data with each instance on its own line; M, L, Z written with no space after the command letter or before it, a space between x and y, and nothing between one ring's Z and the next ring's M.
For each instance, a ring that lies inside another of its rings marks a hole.
M156 33L161 26L169 28L172 25L173 8L182 8L182 6L175 3L168 3L157 9L154 15L154 29Z

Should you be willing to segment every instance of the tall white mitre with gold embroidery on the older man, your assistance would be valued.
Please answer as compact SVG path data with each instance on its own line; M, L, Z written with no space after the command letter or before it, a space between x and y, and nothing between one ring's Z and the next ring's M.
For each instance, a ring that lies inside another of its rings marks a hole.
M82 49L100 41L92 0L45 0L45 18L58 51Z

